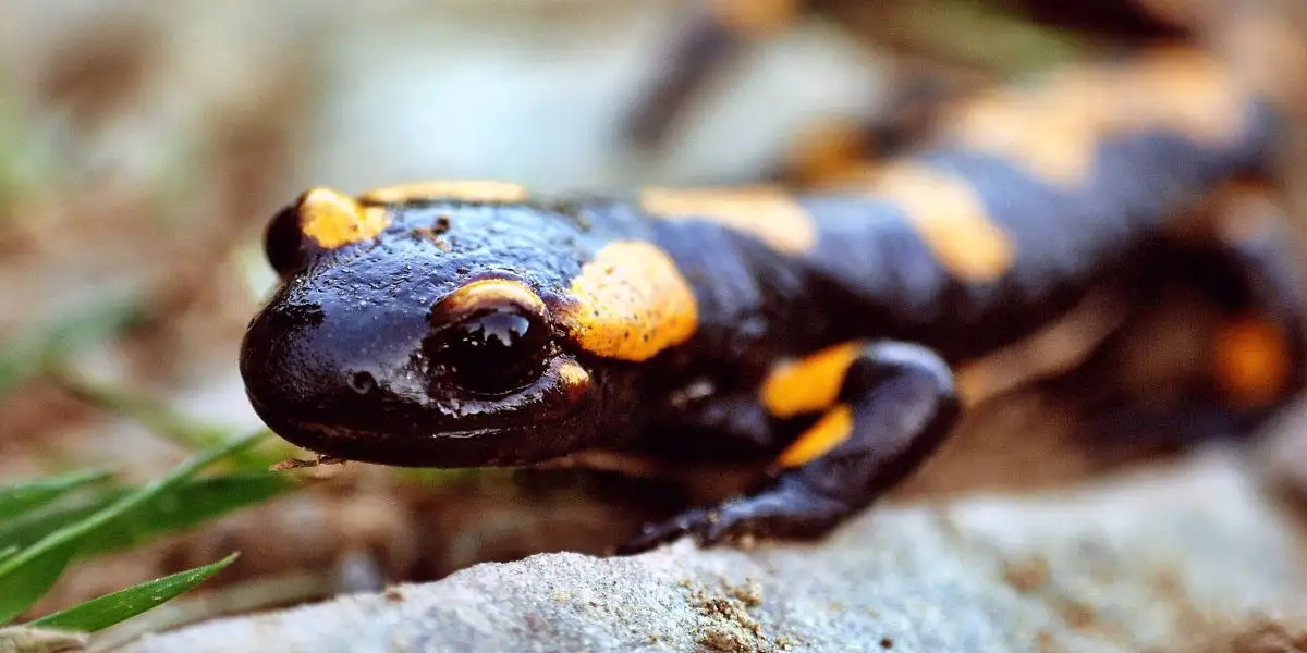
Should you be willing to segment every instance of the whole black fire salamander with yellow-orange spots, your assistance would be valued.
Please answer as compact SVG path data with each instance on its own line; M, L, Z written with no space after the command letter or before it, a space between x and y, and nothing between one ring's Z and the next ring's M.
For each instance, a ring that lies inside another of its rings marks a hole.
M1259 401L1295 390L1307 295L1286 227L1176 221L1266 167L1278 116L1219 59L1161 48L999 88L838 192L314 188L268 227L282 282L240 371L269 427L345 460L767 464L754 490L626 551L821 537L945 440L959 366L1172 248L1227 263L1260 316L1221 358L1231 383Z

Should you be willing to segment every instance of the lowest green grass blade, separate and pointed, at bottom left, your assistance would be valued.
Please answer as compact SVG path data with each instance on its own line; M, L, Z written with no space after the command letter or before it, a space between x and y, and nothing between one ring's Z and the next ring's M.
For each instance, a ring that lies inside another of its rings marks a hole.
M111 594L93 598L68 610L42 616L33 626L59 628L65 631L95 632L119 622L158 607L167 601L193 589L214 573L235 562L239 554L231 554L216 563L196 567L184 572L141 582Z

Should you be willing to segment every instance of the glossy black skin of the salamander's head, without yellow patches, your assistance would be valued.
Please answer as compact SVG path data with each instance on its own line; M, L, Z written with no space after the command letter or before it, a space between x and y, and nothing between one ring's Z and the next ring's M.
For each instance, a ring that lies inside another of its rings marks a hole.
M605 213L606 229L591 226L603 208L414 201L395 205L375 240L335 251L307 243L294 208L282 210L268 255L284 283L240 354L255 410L299 445L389 465L515 465L597 444L621 417L610 406L634 394L630 370L587 362L588 389L569 394L558 366L584 353L557 324L532 324L548 336L525 353L538 375L508 393L484 392L461 379L478 366L460 370L443 355L447 328L459 325L433 307L469 282L505 278L557 311L608 230L638 229L616 213Z

